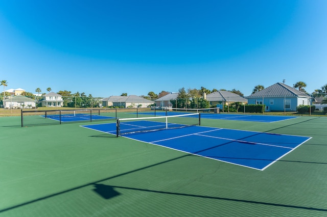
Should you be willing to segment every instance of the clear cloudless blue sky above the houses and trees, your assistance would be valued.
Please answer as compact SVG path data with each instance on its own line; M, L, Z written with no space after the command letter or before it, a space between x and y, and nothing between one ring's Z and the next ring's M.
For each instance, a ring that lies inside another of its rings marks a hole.
M327 84L327 1L0 1L7 89L247 96L283 79Z

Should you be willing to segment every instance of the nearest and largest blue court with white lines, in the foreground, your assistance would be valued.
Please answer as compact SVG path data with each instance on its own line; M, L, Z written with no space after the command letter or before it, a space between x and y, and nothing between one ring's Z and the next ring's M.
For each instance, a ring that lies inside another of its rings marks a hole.
M129 127L146 128L158 124L151 122L153 121L133 121L129 123ZM82 127L116 134L115 123ZM124 137L256 170L265 170L311 139L296 135L204 126L131 133Z

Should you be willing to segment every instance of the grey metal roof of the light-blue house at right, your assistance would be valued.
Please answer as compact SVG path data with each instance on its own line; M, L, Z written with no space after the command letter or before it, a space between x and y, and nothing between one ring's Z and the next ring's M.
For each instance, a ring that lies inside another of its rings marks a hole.
M310 97L305 92L294 89L288 85L283 83L276 83L274 85L269 86L261 91L251 94L248 98L256 98L256 97L281 97L281 96L302 96L302 97Z

